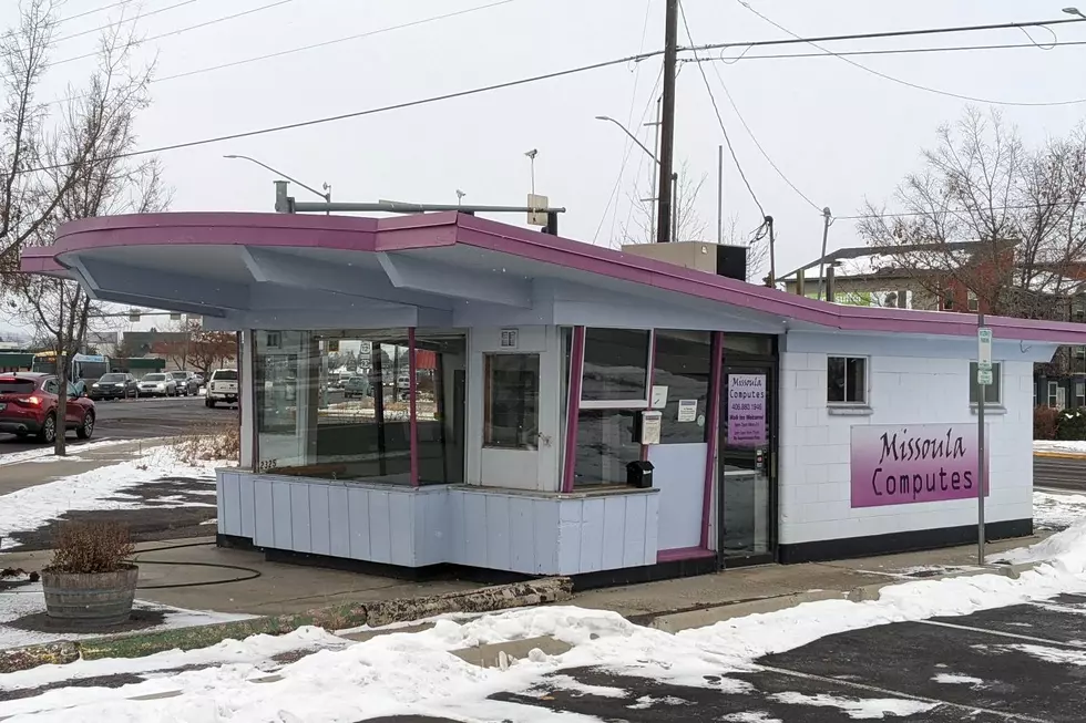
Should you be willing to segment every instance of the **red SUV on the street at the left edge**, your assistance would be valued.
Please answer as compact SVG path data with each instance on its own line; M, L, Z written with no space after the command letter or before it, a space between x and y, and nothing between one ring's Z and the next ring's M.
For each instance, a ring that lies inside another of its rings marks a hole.
M31 372L0 374L0 432L19 437L33 434L39 442L57 438L57 405L60 380ZM68 385L65 430L75 430L80 440L94 433L94 402Z

